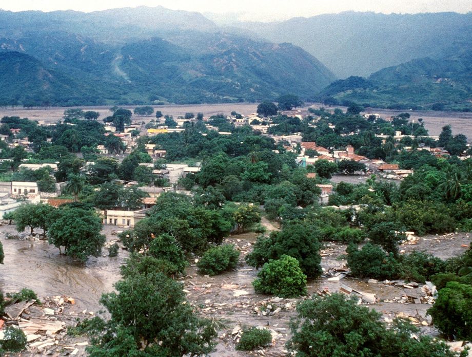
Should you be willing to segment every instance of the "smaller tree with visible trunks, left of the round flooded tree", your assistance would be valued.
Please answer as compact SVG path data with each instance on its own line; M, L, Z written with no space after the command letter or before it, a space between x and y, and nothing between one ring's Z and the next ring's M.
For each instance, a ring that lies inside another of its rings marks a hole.
M45 203L26 203L19 206L14 211L14 221L16 223L16 230L23 232L26 227L30 228L30 234L33 234L34 228L43 229L43 235L50 228L55 215L54 207Z

